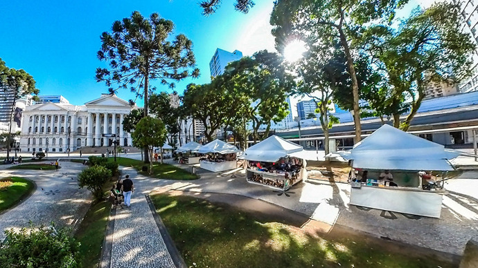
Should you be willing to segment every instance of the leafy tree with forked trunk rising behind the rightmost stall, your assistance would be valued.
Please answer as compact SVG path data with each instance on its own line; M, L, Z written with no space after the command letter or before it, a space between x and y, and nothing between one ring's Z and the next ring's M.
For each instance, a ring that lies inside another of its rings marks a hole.
M387 77L389 92L383 103L393 113L394 126L408 130L427 85L456 84L471 74L476 46L461 32L459 12L458 4L436 3L414 10L398 28L374 26L364 32L364 47Z

